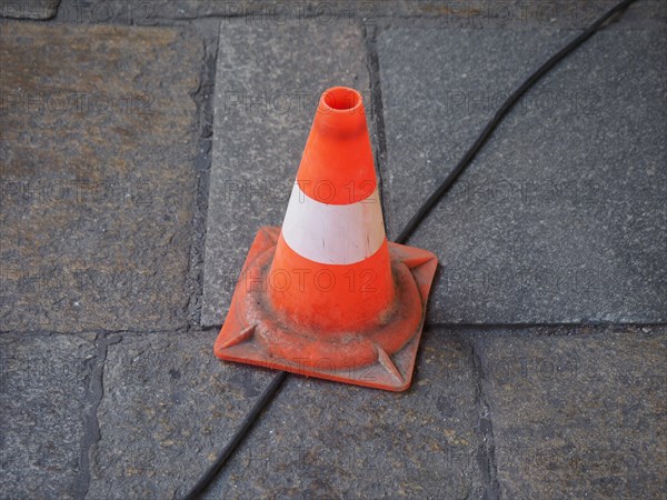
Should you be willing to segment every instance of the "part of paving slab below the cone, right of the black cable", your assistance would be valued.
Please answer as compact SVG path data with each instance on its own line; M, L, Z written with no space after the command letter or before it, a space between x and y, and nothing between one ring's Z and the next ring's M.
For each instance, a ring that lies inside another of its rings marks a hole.
M471 352L445 333L407 392L290 377L207 498L484 498Z

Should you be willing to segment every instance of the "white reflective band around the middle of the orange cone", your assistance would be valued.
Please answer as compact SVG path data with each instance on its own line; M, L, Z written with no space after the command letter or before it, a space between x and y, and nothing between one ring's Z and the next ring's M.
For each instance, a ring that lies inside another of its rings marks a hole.
M378 190L350 204L327 204L292 188L282 238L299 256L319 263L352 264L368 259L385 241Z

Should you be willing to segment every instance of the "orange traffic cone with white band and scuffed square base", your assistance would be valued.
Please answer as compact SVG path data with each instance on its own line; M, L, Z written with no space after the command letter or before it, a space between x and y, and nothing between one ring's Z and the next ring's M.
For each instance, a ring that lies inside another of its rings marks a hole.
M385 234L361 96L320 98L282 230L255 238L218 358L357 386L410 386L437 258Z

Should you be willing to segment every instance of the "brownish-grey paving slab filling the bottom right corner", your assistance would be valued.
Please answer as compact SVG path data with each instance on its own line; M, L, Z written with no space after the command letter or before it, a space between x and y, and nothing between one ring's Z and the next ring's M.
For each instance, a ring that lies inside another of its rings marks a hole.
M479 351L501 498L665 497L667 329L495 337Z

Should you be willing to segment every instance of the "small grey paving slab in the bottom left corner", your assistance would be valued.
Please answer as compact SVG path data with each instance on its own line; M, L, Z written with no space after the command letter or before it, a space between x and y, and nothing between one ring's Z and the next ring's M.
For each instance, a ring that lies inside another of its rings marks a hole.
M93 340L0 337L1 498L76 498Z

